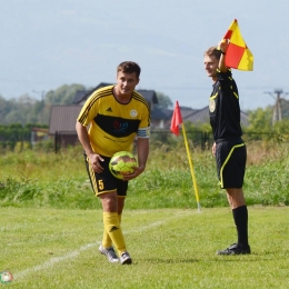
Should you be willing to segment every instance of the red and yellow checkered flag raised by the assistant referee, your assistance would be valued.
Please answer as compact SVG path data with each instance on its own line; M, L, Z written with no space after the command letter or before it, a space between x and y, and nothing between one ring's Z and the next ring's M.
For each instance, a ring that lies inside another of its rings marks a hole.
M232 21L223 39L229 40L225 64L229 68L252 71L253 54L242 39L237 19Z

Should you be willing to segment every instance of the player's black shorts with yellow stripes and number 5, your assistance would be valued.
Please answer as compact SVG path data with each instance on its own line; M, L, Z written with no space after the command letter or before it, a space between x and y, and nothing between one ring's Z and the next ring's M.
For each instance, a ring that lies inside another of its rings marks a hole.
M103 171L98 173L91 168L87 155L83 153L83 156L90 183L96 196L111 191L117 191L118 197L124 198L127 196L129 182L117 179L112 176L109 170L110 158L101 156L101 158L104 160L101 162Z

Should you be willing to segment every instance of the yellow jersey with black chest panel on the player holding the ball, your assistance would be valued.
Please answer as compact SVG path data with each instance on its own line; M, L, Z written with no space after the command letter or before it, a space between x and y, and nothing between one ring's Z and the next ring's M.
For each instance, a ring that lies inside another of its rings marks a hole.
M137 91L133 91L128 103L120 103L113 94L113 86L109 86L88 98L78 121L84 127L90 126L93 151L112 157L117 151L131 151L136 136L149 138L150 109Z

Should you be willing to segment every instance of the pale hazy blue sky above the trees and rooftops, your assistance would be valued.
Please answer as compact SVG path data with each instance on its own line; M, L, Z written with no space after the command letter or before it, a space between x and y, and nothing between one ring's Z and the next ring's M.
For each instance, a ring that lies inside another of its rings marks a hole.
M200 109L212 84L203 51L237 19L255 56L252 72L233 70L241 108L265 108L275 103L266 92L289 91L288 11L281 0L0 0L0 94L114 82L132 60L139 89Z

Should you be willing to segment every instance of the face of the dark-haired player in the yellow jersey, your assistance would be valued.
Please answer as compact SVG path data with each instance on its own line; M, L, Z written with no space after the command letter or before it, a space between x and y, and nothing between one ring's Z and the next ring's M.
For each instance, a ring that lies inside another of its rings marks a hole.
M120 96L131 97L131 93L138 83L139 83L139 78L137 77L136 72L123 73L122 71L119 71L117 76L116 89Z

